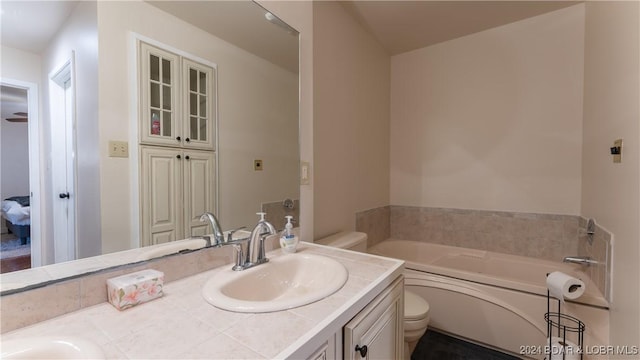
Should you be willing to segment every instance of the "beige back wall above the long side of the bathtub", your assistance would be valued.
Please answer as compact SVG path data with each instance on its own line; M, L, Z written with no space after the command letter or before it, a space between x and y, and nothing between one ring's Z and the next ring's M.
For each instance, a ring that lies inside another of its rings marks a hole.
M583 28L577 5L392 57L391 204L578 215Z

